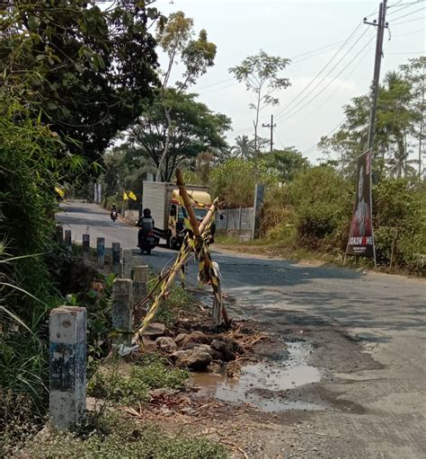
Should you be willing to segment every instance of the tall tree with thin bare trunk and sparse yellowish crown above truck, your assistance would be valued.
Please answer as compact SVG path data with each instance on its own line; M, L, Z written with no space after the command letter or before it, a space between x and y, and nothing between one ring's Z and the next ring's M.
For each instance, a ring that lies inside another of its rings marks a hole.
M176 98L171 97L171 94L175 94L178 97L183 91L188 89L191 84L197 81L200 75L204 75L207 72L209 66L214 65L216 57L216 45L207 40L207 32L201 30L197 40L192 40L193 34L193 20L187 18L182 11L170 14L166 24L159 24L158 27L158 44L167 54L168 63L164 71L164 79L161 87L164 115L167 119L167 131L163 153L157 164L157 181L161 177L164 161L171 145L173 128L175 128L171 114ZM182 75L183 80L182 82L177 82L174 88L175 91L170 92L168 91L169 88L172 88L170 78L173 66L178 57L181 58L182 64L185 67Z

